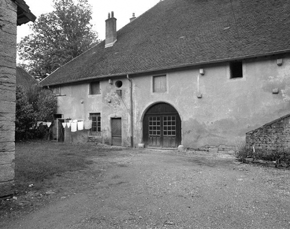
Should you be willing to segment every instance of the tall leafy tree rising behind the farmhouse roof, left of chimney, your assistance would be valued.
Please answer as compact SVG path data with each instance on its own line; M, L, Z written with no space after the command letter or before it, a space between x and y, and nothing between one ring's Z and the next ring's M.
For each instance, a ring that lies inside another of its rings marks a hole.
M31 26L33 33L18 44L19 59L27 62L25 70L40 79L98 43L88 0L53 4L54 10L42 14Z

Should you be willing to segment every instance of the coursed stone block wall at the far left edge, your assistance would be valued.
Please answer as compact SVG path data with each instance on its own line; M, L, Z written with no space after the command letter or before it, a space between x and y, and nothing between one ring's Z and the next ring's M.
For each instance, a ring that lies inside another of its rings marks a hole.
M16 5L0 1L0 197L14 192Z

